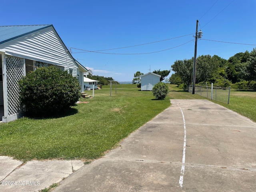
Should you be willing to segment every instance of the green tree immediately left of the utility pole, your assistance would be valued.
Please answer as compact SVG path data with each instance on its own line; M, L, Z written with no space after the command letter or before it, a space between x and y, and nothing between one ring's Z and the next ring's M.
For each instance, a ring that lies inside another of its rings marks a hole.
M182 83L186 84L187 87L192 82L193 62L194 58L189 60L176 60L171 66L172 70L176 72L178 76L180 76Z

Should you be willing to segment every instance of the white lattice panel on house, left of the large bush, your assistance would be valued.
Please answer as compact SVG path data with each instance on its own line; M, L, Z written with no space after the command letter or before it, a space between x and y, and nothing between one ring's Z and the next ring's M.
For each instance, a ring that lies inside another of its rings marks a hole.
M8 96L8 116L24 112L19 102L18 81L24 76L23 59L6 55L6 78Z

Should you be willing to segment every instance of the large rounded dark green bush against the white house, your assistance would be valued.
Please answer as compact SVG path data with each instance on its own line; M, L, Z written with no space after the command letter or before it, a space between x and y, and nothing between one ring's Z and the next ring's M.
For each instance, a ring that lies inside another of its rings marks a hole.
M49 116L74 106L80 98L78 80L55 66L38 68L19 81L20 102L35 116Z

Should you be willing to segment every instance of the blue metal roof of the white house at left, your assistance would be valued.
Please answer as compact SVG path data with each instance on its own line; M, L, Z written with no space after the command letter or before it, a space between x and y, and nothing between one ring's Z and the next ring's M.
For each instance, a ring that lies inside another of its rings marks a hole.
M0 26L0 44L48 28L52 25Z

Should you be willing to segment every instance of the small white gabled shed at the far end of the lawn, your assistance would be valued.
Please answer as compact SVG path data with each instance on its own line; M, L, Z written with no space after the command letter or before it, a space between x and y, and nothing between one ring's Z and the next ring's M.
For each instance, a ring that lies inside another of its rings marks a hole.
M147 74L144 74L142 76L140 76L141 78L141 90L145 91L145 90L152 90L153 86L155 84L157 84L158 82L160 82L160 75L149 72Z

